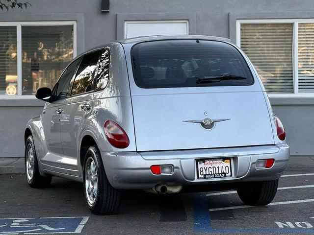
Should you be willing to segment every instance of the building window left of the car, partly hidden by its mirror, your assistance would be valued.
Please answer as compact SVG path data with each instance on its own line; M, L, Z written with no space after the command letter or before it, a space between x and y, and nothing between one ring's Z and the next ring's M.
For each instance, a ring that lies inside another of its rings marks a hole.
M75 26L75 22L0 23L0 95L52 89L76 56Z

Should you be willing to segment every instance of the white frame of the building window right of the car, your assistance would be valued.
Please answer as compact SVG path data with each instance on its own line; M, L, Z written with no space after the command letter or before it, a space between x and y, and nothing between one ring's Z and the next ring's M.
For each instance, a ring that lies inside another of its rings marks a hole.
M268 97L314 97L314 93L299 93L299 70L298 70L298 29L299 23L314 23L314 19L243 19L236 20L236 46L241 48L241 24L293 24L292 35L292 71L293 71L293 93L292 94L268 94ZM296 53L295 53L296 52Z

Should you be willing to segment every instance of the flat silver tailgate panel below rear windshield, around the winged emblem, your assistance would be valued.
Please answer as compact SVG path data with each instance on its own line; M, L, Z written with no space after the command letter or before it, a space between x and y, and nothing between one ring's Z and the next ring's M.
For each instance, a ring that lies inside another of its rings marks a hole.
M175 93L180 89L171 90ZM137 151L274 144L268 109L261 91L132 94L131 97ZM204 99L211 102L199 105L198 100ZM208 110L210 118L231 120L216 123L210 131L182 121L205 118L204 109Z

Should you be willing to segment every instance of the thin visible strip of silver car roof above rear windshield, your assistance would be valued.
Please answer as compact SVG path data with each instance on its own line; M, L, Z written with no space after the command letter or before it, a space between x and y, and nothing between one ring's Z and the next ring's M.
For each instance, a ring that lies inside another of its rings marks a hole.
M127 44L127 43L140 43L140 42L147 42L147 41L170 40L170 39L195 39L195 40L200 39L200 40L231 42L229 38L221 38L221 37L213 37L213 36L205 36L205 35L157 35L157 36L127 38L127 39L115 40L113 42Z

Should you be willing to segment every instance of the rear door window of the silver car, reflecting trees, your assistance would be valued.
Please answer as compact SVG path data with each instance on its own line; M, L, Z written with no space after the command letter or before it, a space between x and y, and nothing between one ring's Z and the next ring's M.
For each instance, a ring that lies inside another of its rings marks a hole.
M97 62L102 50L97 50L84 55L73 83L71 95L82 94L94 90L93 82Z

